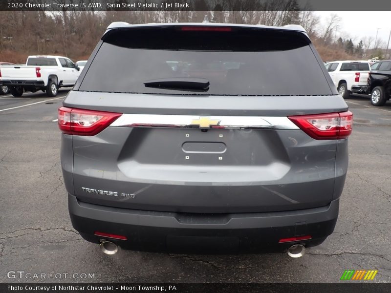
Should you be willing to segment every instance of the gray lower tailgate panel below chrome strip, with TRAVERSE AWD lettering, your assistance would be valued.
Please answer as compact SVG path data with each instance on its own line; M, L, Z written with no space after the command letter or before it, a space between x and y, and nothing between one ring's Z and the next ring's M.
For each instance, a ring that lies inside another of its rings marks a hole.
M182 148L187 141L222 142L227 149L189 154ZM325 206L334 194L337 141L316 141L302 130L108 127L93 137L74 136L73 147L71 194L106 206L277 211ZM118 193L148 188L135 198L113 198L86 194L82 187Z

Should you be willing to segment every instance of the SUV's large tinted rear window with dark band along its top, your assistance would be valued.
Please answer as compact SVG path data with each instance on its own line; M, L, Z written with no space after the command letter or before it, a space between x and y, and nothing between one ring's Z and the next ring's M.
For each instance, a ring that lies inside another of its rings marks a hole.
M209 81L202 95L332 94L323 64L300 32L166 26L114 30L103 41L79 90L201 94L144 85L153 79L191 77Z

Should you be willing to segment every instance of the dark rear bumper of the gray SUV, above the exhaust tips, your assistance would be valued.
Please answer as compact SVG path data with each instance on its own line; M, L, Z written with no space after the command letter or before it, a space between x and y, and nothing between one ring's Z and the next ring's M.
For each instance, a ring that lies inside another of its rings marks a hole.
M145 251L282 251L295 243L319 245L334 230L339 199L326 207L280 212L196 214L120 209L83 203L68 195L73 227L99 243L94 231L126 236L108 240ZM311 240L279 243L311 235Z

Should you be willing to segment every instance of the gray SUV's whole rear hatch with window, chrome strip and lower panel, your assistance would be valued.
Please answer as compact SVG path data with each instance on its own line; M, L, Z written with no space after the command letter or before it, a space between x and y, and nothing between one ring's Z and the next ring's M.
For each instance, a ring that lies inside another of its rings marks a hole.
M175 212L325 206L337 141L315 140L287 118L347 110L323 67L302 32L109 31L64 105L122 116L73 136L72 191L85 202Z

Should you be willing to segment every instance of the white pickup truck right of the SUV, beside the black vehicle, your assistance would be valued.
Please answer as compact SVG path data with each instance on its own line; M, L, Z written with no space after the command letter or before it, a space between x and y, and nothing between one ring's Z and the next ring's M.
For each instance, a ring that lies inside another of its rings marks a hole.
M325 66L344 99L347 99L351 93L367 92L370 70L368 61L333 61L326 63Z

